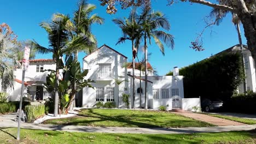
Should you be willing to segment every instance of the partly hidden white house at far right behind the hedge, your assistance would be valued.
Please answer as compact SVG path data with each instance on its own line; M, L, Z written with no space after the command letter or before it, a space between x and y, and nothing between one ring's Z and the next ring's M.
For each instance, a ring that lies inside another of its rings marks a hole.
M236 53L236 52L243 52L243 60L245 63L245 71L246 71L246 91L253 91L256 92L256 78L255 78L255 65L253 61L253 57L251 52L248 50L247 45L243 45L243 50L241 50L240 45L234 45L229 49L226 49L222 52L217 53L216 55L220 55L221 53L228 52L228 53ZM243 82L237 89L238 93L244 93Z

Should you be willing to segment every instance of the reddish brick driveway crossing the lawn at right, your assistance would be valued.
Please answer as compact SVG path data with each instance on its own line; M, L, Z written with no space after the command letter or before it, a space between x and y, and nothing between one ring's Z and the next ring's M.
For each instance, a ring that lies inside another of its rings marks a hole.
M178 115L182 115L185 117L190 117L197 119L199 121L211 123L218 126L226 126L226 125L246 125L244 123L230 121L228 119L218 118L218 117L212 117L208 115L204 115L201 113L195 113L195 112L189 112L189 111L173 111L172 113L176 113Z

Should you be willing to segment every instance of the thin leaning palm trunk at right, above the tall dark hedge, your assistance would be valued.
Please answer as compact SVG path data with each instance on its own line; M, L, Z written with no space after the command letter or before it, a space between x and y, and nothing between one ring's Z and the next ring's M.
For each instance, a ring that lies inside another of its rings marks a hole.
M241 32L240 32L240 26L239 23L235 24L237 34L238 34L238 40L239 40L239 45L240 49L242 51L242 66L243 66L243 73L245 73L245 79L243 80L243 93L246 93L247 87L246 87L246 68L245 68L245 56L243 55L243 44L242 44L242 38L241 38Z

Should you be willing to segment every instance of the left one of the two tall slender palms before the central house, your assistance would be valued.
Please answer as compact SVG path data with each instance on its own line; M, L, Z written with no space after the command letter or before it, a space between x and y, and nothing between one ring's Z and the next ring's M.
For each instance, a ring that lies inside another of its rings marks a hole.
M123 37L120 37L117 44L125 43L126 40L131 40L132 43L132 108L135 108L135 58L137 55L137 48L141 39L141 26L137 22L138 16L136 15L136 9L132 9L128 19L113 19L113 22L118 25L122 32ZM116 45L117 45L116 44Z

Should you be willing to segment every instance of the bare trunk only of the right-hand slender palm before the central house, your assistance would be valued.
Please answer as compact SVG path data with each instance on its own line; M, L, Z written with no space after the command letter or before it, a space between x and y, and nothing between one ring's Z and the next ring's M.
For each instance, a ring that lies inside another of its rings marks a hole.
M145 109L148 109L148 49L147 49L147 35L144 35L144 49L145 49Z

